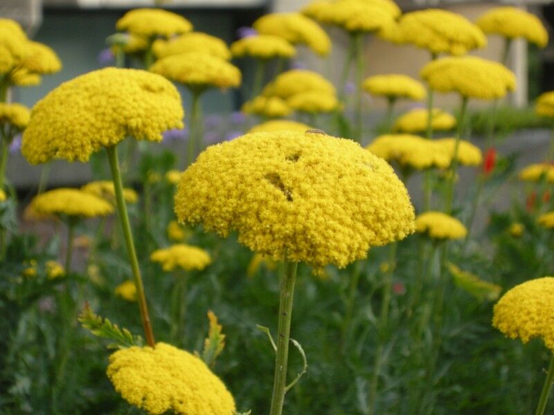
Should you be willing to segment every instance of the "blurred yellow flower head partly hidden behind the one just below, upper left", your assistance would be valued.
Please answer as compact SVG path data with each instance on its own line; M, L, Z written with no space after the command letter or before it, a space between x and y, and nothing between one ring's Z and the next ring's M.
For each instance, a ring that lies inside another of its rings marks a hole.
M152 51L158 58L180 53L202 52L220 59L231 59L231 50L222 39L201 32L186 33L169 40L157 39L152 44Z

